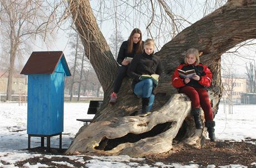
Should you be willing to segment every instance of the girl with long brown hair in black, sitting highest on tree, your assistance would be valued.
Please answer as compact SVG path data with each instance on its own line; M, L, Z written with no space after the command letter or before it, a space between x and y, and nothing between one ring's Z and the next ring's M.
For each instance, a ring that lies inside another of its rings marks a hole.
M119 68L119 74L116 77L113 93L110 95L110 104L115 104L117 99L117 93L122 85L122 80L127 76L126 72L130 65L130 60L126 60L126 57L134 57L134 54L142 53L143 42L141 30L135 28L132 30L129 39L122 42L119 53L117 55L117 63L121 65Z

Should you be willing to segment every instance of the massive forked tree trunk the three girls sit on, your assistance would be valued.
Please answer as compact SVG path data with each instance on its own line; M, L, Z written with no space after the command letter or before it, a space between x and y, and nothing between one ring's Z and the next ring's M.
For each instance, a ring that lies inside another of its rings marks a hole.
M183 144L203 145L205 129L195 129L193 118L188 115L190 101L183 94L175 94L177 90L171 85L171 76L183 62L187 49L198 48L203 52L201 63L208 65L213 73L208 93L215 115L222 94L220 57L235 45L256 38L256 1L228 1L223 7L184 29L156 53L161 59L164 73L156 89L152 113L144 116L136 115L141 103L132 93L131 79L124 80L117 103L114 106L107 104L117 64L96 24L89 1L70 0L70 8L86 55L105 96L101 110L93 118L95 123L80 129L66 153L146 156Z

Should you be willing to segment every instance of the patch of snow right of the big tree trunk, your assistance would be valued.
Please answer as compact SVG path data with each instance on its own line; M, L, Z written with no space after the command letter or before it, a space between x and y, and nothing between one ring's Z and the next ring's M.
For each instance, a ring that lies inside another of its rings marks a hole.
M220 104L214 119L217 139L234 141L245 138L256 139L256 105L234 105L233 114L224 111L228 113L227 105Z

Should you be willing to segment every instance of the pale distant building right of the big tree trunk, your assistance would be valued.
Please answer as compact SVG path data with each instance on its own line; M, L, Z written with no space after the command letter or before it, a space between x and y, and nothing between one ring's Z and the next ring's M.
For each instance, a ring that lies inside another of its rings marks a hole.
M247 79L244 78L221 78L224 87L223 96L232 95L233 99L240 99L242 93L247 93Z

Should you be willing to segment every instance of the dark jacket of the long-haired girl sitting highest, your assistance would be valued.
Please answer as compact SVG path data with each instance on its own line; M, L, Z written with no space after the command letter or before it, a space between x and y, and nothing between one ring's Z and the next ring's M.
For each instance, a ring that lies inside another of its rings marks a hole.
M142 42L142 47L143 47L143 43ZM138 44L138 43L137 43ZM121 65L122 61L126 58L126 57L131 57L131 58L134 58L134 55L136 54L135 51L136 51L136 47L137 47L137 44L134 43L133 47L132 47L132 52L131 53L128 53L128 40L122 42L121 44L121 47L119 49L119 53L117 55L117 63L119 63Z

